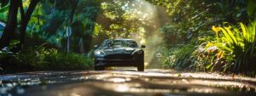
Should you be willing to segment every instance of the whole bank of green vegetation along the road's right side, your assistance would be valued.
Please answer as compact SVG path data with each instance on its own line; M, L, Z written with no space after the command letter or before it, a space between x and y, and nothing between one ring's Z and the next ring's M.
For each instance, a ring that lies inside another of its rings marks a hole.
M164 68L255 75L253 0L148 1L173 19L161 28Z

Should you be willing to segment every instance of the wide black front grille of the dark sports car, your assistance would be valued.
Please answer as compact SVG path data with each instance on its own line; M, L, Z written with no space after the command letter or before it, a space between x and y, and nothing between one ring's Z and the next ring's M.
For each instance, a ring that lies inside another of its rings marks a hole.
M104 59L133 59L131 54L108 54Z

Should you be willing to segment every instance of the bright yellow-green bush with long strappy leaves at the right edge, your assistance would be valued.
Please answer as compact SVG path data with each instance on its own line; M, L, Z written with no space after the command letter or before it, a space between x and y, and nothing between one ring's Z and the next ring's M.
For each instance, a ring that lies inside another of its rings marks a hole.
M229 62L227 63L229 65L224 65L225 67L229 67L231 71L256 71L254 64L256 21L247 26L240 23L240 27L236 25L212 26L212 30L216 32L216 40L208 42L207 48L218 48L218 54L224 55L224 59Z

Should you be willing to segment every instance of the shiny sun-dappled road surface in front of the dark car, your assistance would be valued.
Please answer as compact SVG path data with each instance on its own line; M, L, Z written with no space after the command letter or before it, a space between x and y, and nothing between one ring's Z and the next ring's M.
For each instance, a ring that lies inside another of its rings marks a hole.
M1 96L256 96L256 79L163 69L35 71L0 76Z

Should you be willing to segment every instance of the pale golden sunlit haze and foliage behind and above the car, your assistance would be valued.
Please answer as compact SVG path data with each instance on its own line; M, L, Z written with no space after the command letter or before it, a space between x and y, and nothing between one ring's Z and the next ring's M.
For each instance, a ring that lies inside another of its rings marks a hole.
M108 6L108 7L107 7ZM159 68L157 48L162 44L160 27L169 21L165 8L145 0L107 0L101 3L102 12L97 22L109 38L132 38L145 48L145 65Z

